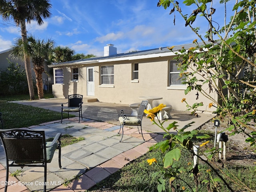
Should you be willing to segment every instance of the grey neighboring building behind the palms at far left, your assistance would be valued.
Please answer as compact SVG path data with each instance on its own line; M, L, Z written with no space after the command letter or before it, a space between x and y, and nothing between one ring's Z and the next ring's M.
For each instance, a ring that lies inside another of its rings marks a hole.
M25 64L24 60L18 59L18 58L12 58L10 54L12 53L12 48L1 51L0 52L0 73L1 72L6 72L7 68L10 66L8 60L13 63L18 63L20 66L22 66L25 69ZM35 72L33 70L33 64L31 63L31 68L32 68L32 76L33 79L35 80ZM50 74L50 78L48 78L46 73L43 73L43 80L44 80L44 85L46 85L45 90L48 89L48 85L53 84L53 74L51 68L48 68L47 65L45 64L44 70Z

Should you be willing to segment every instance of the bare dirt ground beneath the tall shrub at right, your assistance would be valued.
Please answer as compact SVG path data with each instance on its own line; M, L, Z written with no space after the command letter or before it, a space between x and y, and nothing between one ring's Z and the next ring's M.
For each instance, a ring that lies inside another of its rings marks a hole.
M252 122L252 126L255 128L256 124ZM245 142L248 136L244 133L231 135L232 132L228 132L227 122L220 122L220 126L217 127L217 135L221 132L225 132L228 135L228 141L226 142L226 164L238 164L241 166L256 166L256 148L251 147L250 143ZM215 132L214 122L210 121L200 127L198 130L206 130ZM248 131L250 132L250 131ZM219 144L216 142L216 147ZM225 163L225 162L224 162Z

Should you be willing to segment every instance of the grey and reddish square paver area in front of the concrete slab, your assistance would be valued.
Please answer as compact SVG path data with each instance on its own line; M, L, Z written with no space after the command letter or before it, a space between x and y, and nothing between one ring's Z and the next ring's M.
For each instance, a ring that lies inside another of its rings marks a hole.
M55 121L27 128L44 130L46 138L54 137L57 132L61 132L62 135L71 134L85 138L78 143L62 147L61 169L58 167L58 152L54 154L52 162L47 164L47 190L65 192L88 190L124 165L148 152L150 146L162 139L162 135L143 131L146 140L144 141L137 128L126 127L124 138L122 142L119 142L120 126L90 119L83 119L78 123L77 120L77 118L70 118L70 120L64 120L62 124L60 121ZM3 148L0 149L0 163L2 164L0 165L0 182L3 182L6 174ZM20 170L20 168L12 167L10 172L17 169ZM22 171L24 172L17 176L18 180L15 177L9 177L13 185L8 186L8 192L43 190L43 168L24 167ZM67 180L72 180L77 176L74 182L67 186L63 185ZM0 192L2 191L4 191L4 185L0 186Z

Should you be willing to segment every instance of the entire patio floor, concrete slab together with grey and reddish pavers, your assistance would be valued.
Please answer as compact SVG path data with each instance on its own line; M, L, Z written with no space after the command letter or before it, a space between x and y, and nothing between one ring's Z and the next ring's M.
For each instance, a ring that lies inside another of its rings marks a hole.
M42 107L54 111L61 111L61 103L67 99L47 99L35 101L19 101L19 104L26 104L35 107ZM162 140L162 130L144 117L142 129L145 141L142 140L136 127L126 127L124 138L119 142L121 136L119 131L119 112L121 109L129 109L128 105L110 104L102 102L84 103L83 120L78 123L78 118L65 119L62 124L60 120L46 122L28 129L44 130L46 137L52 137L56 132L71 134L76 137L84 137L85 140L62 148L62 168L58 168L57 152L53 161L48 164L47 190L79 192L88 190L96 183L110 176L132 160L148 152L148 148ZM172 119L168 123L176 121L180 128L194 121L188 129L195 129L208 122L213 115L199 114L198 117L190 116L187 112L172 111ZM214 126L213 126L214 128ZM4 150L0 150L0 181L5 181L5 156ZM17 168L16 168L17 169ZM16 171L10 170L10 172ZM17 176L18 180L10 177L16 185L8 186L8 191L42 191L43 168L23 168L24 172ZM67 180L76 180L63 185ZM20 181L20 182L19 182ZM20 185L22 182L31 182L27 186ZM30 185L31 184L31 185ZM0 186L0 192L4 186Z

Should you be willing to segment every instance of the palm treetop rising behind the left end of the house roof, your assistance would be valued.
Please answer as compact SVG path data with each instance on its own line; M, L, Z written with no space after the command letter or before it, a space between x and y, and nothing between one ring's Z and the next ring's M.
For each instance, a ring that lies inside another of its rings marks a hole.
M75 53L74 50L69 47L57 46L54 48L50 60L54 63L62 63L67 61L72 61L72 56Z

